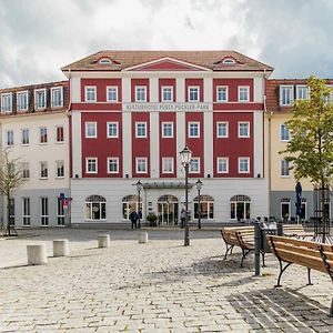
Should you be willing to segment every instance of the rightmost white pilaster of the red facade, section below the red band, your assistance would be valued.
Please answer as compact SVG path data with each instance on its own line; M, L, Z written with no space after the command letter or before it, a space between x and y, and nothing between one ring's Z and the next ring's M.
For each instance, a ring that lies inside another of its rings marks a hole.
M253 112L253 176L263 176L263 112Z

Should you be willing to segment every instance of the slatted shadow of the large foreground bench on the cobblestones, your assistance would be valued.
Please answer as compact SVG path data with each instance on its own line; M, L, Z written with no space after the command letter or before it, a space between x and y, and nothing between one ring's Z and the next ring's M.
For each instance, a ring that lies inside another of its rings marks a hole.
M258 330L283 329L285 332L333 332L329 307L289 289L265 289L226 295L239 314ZM327 326L330 327L327 330ZM280 331L279 331L280 332Z

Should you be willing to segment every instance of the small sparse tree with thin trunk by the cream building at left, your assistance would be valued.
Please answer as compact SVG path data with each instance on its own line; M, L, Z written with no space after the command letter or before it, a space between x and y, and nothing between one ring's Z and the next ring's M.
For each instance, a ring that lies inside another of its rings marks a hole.
M7 234L10 235L10 203L12 192L22 182L22 163L19 158L11 159L10 150L1 151L0 159L0 191L7 198Z

